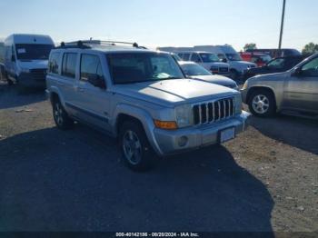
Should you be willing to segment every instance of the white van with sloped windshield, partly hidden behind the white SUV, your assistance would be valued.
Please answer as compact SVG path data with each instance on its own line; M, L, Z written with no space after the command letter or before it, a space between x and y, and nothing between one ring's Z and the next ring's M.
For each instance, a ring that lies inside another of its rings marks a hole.
M194 50L214 53L230 64L230 77L234 80L241 79L247 69L256 67L254 63L243 61L231 45L195 45Z

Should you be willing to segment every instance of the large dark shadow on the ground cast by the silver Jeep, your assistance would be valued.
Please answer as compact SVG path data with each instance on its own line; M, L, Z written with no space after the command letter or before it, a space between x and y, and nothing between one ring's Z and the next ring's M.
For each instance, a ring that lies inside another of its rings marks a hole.
M0 231L268 232L273 199L223 146L131 172L76 125L0 140Z

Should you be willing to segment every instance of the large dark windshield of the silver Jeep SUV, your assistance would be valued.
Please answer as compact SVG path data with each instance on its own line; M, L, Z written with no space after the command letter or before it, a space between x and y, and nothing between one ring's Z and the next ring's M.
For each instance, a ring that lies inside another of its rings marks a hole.
M134 84L184 78L171 55L160 53L124 53L107 55L114 84Z

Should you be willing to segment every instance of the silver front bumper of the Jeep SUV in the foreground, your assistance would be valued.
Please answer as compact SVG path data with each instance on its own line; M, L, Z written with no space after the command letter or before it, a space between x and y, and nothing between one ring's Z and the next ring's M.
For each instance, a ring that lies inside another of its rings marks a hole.
M177 154L211 144L218 144L220 131L234 127L235 135L242 133L248 125L249 116L249 113L243 111L242 114L233 118L196 128L184 128L176 131L155 128L154 144L158 147L156 151L160 155ZM180 145L182 137L187 138L187 143L184 146Z

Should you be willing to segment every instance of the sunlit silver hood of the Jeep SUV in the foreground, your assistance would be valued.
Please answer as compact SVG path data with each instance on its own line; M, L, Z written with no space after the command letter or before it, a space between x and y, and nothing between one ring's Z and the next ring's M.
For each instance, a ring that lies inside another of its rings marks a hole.
M117 84L114 92L155 104L174 106L237 94L237 91L194 79L174 79L137 84Z

